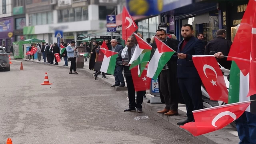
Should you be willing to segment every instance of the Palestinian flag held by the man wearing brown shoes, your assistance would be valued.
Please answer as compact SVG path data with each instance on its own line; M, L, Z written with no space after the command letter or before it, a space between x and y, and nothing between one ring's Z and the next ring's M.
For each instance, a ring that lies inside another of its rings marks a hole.
M147 76L156 80L164 68L164 65L170 60L175 51L158 38L154 37L154 39L156 41L157 48L153 57L149 61Z

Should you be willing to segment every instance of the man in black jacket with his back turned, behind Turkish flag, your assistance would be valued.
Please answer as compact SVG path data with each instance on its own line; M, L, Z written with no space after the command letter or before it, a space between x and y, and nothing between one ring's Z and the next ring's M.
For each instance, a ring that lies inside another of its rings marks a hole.
M222 52L224 56L228 56L230 47L232 45L232 42L230 40L226 39L226 30L219 29L217 30L217 37L208 42L205 48L205 55L209 55L211 51L214 52ZM231 68L231 62L227 61L227 57L225 58L217 58L218 63L223 66L224 68L230 70Z

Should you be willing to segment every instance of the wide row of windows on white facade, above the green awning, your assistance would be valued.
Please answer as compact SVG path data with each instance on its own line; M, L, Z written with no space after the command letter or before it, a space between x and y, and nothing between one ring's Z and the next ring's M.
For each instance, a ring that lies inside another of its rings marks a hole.
M58 22L88 20L88 6L58 10Z

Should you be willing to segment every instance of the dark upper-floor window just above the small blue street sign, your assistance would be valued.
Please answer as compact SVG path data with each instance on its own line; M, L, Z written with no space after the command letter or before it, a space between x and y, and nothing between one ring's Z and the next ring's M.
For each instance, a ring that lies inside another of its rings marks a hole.
M100 20L106 20L107 15L110 15L110 14L117 14L116 6L99 6L99 19Z

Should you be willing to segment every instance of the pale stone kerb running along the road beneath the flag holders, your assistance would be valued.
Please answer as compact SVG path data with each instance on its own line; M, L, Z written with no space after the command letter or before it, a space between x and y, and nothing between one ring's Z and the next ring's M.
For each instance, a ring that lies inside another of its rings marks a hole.
M39 64L45 64L42 62L36 62L36 61L30 61L30 60L24 60L24 59L18 59L18 60L23 60L23 61L28 61L28 62L34 62L34 63L39 63ZM64 67L64 66L59 66L59 65L53 65L53 64L45 64L45 65L50 65L50 66L58 66L59 68L66 68L68 69L69 67ZM84 72L86 73L88 76L92 76L93 72L90 72L90 70L80 70L77 69L78 72ZM102 78L98 79L99 82L102 82L103 84L106 84L108 86L111 86L114 83L114 80L105 80ZM123 88L119 88L119 87L110 87L113 90L127 90L127 87L123 87ZM128 91L123 91L124 92L124 97L128 97ZM164 120L172 123L174 126L177 126L178 128L180 128L179 125L177 125L177 122L183 121L186 119L186 113L178 110L179 115L178 116L165 116L164 114L159 114L157 113L158 110L161 110L162 108L164 108L164 104L150 104L147 102L147 100L143 100L142 103L142 108L148 110L149 112L152 112L154 114L156 114L157 116L160 116L161 118L163 118ZM188 132L187 130L180 128L182 130L184 130L185 132ZM190 132L188 132L190 134ZM237 136L234 136L233 134L230 134L229 132L225 131L225 130L217 130L214 132L210 132L208 134L204 134L201 136L196 136L196 138L198 138L199 140L201 140L202 142L205 142L206 144L238 144L240 142L239 138Z

